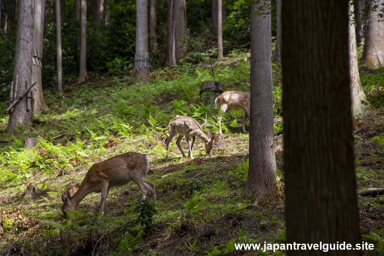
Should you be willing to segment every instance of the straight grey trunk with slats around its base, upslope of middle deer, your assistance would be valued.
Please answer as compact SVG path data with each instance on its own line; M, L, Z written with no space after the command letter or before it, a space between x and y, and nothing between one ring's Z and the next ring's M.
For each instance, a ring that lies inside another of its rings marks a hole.
M135 83L146 83L149 77L147 5L146 0L136 0Z

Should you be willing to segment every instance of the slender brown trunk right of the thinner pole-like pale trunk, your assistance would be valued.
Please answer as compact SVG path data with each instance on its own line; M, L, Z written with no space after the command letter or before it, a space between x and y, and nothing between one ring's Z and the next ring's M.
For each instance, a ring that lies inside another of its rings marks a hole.
M86 76L87 76L87 1L81 0L79 80L85 80Z

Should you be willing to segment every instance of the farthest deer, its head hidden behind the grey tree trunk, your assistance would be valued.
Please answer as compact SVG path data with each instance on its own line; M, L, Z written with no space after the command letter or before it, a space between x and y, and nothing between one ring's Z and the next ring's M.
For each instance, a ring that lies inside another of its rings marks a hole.
M251 106L250 100L250 92L246 91L225 91L215 99L215 108L217 108L217 101L221 108L221 114L218 116L218 128L220 134L223 134L221 131L221 119L225 113L232 109L242 109L244 111L243 131L245 132L245 119L247 118L247 114L249 115Z

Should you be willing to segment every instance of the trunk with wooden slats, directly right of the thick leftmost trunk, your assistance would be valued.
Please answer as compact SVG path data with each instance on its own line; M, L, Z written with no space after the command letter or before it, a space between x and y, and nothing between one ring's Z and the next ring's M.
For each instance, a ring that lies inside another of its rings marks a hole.
M45 18L45 0L35 0L34 29L33 29L33 57L32 60L32 90L35 98L35 111L39 112L47 105L43 96L43 83L41 81L41 69L43 68L43 33Z

